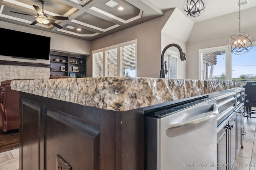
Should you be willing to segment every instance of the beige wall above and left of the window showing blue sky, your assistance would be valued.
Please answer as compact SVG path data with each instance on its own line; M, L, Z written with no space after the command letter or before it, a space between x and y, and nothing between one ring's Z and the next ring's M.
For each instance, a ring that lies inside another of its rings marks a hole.
M256 7L241 10L241 32L250 33L255 41L256 22L252 20L253 14L256 14ZM199 79L199 49L226 46L230 36L239 32L238 16L238 12L234 12L194 24L186 45L188 56L186 76L188 79Z

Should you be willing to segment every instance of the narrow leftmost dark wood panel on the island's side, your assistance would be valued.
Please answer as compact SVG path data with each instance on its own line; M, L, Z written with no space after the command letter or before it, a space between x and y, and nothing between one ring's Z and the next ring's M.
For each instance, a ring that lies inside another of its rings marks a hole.
M22 167L20 168L21 170L44 169L44 138L42 125L42 108L43 107L40 104L31 102L29 100L24 99L22 102Z

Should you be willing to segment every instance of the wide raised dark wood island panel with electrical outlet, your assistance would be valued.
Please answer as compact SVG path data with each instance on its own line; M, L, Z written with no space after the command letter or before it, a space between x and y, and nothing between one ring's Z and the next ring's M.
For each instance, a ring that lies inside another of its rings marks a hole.
M46 110L46 169L56 170L59 154L72 170L99 170L100 127L68 113Z

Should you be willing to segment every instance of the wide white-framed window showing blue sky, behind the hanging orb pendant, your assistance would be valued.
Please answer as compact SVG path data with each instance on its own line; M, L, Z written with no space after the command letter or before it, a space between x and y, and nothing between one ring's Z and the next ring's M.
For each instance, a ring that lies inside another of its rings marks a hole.
M256 81L256 47L242 55L231 54L226 46L199 50L201 80Z

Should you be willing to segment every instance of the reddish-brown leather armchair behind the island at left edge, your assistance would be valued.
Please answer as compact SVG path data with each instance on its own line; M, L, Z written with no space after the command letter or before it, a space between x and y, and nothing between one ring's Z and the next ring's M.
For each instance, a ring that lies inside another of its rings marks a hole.
M20 126L20 94L11 89L11 81L3 81L0 85L0 129L3 132L19 129Z

